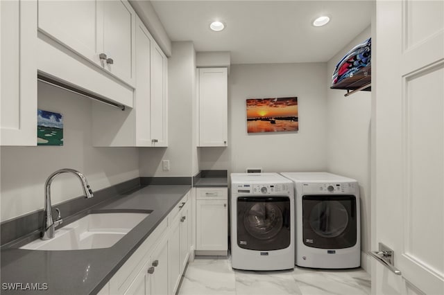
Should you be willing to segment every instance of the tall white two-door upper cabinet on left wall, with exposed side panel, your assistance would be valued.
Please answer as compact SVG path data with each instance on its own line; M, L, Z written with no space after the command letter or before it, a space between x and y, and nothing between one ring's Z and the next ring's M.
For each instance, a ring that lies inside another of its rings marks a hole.
M93 102L93 145L157 147L168 145L167 57L137 17L134 108L121 111Z

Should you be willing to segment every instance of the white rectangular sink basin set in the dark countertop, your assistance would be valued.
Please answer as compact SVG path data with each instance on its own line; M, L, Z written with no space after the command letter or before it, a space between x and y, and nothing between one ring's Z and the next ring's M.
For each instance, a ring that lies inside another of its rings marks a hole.
M56 230L51 240L34 240L20 249L83 250L112 247L149 213L93 213Z

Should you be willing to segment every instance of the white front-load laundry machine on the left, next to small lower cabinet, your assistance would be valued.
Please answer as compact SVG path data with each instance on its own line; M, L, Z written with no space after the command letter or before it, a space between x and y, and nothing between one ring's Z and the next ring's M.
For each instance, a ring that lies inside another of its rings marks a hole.
M234 269L294 268L293 182L278 173L231 174Z

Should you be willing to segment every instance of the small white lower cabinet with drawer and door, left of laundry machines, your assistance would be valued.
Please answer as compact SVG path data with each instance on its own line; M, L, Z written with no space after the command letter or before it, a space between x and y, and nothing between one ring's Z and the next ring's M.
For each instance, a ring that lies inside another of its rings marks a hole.
M196 251L198 255L227 255L227 188L196 189Z

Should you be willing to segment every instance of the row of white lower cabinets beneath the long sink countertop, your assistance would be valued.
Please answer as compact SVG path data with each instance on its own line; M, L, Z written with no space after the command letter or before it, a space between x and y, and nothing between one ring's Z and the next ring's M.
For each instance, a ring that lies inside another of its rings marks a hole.
M188 226L184 227L189 199L187 193L114 274L109 288L104 287L101 294L108 294L107 289L109 294L176 294L190 251ZM187 246L182 244L185 242Z

